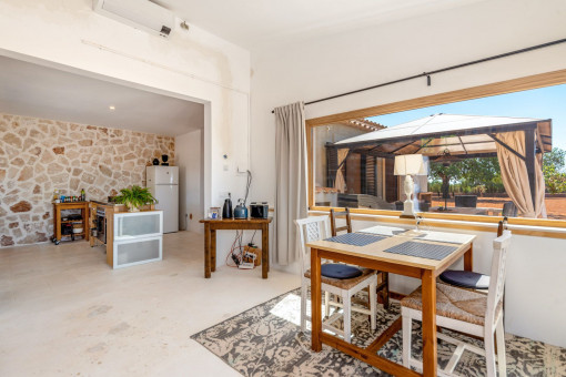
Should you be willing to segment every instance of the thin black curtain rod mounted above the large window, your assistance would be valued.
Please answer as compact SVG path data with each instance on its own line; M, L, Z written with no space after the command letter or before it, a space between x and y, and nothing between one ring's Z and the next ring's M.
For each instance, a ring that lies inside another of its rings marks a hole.
M516 55L516 54L519 54L519 53L529 52L529 51L534 51L534 50L538 50L538 49L544 49L544 48L547 48L547 47L550 47L550 45L555 45L555 44L560 44L560 43L564 43L564 42L566 42L566 38L558 39L556 41L552 41L552 42L547 42L547 43L543 43L543 44L532 45L532 47L528 47L528 48L525 48L525 49L520 49L520 50L515 50L515 51L509 51L509 52L501 53L501 54L488 57L488 58L473 60L473 61L469 61L467 63L451 65L451 67L446 67L446 68L441 68L438 70L429 71L429 72L423 72L423 73L420 73L420 74L410 75L410 77L406 77L404 79L393 80L393 81L384 82L384 83L381 83L381 84L377 84L377 85L353 90L351 92L345 92L345 93L341 93L341 94L335 94L335 95L326 96L326 98L323 98L323 99L320 99L320 100L314 100L314 101L305 102L305 105L317 103L317 102L323 102L323 101L329 101L329 100L334 100L334 99L337 99L337 98L341 98L341 96L346 96L346 95L350 95L350 94L365 92L367 90L372 90L372 89L376 89L376 88L382 88L382 86L387 86L387 85L392 85L392 84L396 84L396 83L400 83L400 82L404 82L404 81L408 81L408 80L413 80L413 79L418 79L418 78L426 78L426 84L428 86L431 86L431 74L446 72L446 71L452 71L452 70L456 70L458 68L464 68L464 67L468 67L468 65L485 63L487 61L492 61L492 60L496 60L496 59L502 59L502 58L507 58L507 57L511 57L511 55ZM275 113L275 110L272 110L271 113L272 114Z

